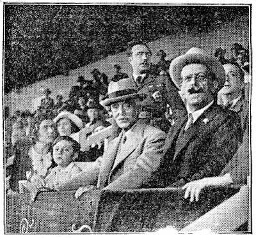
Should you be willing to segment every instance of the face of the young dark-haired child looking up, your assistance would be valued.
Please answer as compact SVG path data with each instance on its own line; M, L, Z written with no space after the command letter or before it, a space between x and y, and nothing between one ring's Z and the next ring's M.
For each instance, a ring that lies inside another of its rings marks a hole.
M61 167L67 167L75 156L72 142L67 140L61 140L53 146L52 151L53 160L57 165Z

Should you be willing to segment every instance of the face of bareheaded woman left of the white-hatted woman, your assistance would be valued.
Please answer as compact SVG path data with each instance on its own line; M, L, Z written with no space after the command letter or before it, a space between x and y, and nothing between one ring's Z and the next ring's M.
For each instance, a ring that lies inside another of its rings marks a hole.
M42 121L38 130L38 140L40 142L51 143L56 137L56 128L51 119Z

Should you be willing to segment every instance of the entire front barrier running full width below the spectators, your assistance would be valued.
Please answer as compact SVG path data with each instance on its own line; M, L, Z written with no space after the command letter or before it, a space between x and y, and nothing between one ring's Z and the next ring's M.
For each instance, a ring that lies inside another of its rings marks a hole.
M238 209L237 209L238 208ZM179 232L202 228L233 232L249 218L248 186L208 188L198 202L179 188L99 191L74 197L74 191L6 196L6 233Z

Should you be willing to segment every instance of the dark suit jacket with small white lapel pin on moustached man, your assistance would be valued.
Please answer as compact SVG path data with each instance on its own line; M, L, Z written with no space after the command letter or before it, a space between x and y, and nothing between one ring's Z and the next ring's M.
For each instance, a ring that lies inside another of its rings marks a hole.
M187 117L170 129L161 166L146 187L183 186L186 182L220 174L242 140L234 112L212 105L184 131Z

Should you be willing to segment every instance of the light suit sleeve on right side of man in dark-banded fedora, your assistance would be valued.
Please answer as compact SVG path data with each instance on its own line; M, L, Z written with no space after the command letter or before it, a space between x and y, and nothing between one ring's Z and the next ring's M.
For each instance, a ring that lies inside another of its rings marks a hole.
M131 169L111 182L104 190L125 190L139 188L160 165L166 134L158 132L148 136L143 152L138 156Z

